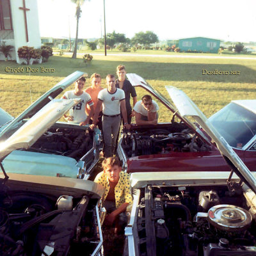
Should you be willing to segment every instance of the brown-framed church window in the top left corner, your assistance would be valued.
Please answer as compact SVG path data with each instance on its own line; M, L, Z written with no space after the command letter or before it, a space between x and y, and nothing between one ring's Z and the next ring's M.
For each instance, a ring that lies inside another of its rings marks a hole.
M0 30L12 30L10 0L0 1Z

